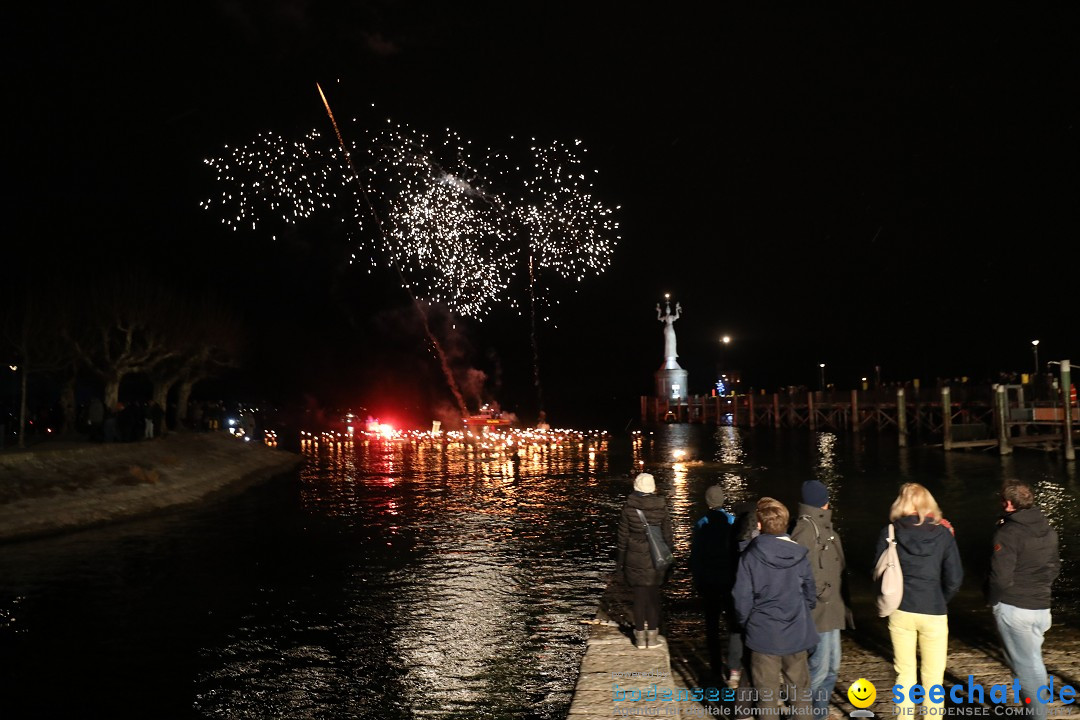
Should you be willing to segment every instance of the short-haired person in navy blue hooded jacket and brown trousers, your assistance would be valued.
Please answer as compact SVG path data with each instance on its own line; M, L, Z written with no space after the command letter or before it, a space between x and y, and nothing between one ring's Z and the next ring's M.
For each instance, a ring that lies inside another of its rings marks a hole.
M751 675L760 715L780 711L781 683L792 717L810 714L807 651L818 646L810 611L816 602L807 549L787 534L787 508L772 498L757 501L761 534L739 559L732 595L739 624L751 649Z

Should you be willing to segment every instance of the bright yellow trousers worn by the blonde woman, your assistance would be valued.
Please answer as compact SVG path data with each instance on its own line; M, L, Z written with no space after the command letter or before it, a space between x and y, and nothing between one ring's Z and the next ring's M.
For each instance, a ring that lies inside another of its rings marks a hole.
M945 681L945 661L948 657L948 615L924 615L919 612L895 610L889 615L889 635L892 637L892 668L896 684L904 685L904 702L897 707L914 707L909 698L912 685L917 682L929 694L930 688ZM921 663L916 665L916 649ZM916 668L921 680L916 676ZM927 708L943 710L943 703L932 703L927 696Z

